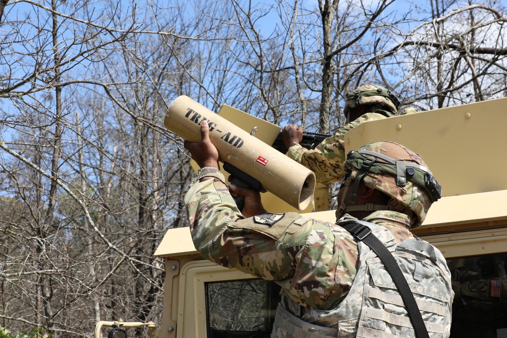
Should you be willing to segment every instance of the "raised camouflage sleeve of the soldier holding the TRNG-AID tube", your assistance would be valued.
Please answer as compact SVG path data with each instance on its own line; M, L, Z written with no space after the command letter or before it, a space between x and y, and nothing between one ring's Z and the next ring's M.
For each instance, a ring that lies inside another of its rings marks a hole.
M268 280L294 275L296 257L308 234L285 234L299 230L301 226L293 224L301 218L299 214L266 214L264 219L258 218L258 223L252 217L245 219L223 174L213 168L199 171L185 196L185 205L194 245L203 257Z

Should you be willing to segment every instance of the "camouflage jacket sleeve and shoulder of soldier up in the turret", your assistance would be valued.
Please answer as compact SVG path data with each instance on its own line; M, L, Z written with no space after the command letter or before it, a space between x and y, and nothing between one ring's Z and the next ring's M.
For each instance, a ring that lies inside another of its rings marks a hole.
M342 168L346 158L345 133L365 122L380 119L386 117L377 112L369 112L340 127L333 136L323 140L315 149L309 150L295 144L288 148L287 156L313 171L317 182L328 184L340 181L345 174Z

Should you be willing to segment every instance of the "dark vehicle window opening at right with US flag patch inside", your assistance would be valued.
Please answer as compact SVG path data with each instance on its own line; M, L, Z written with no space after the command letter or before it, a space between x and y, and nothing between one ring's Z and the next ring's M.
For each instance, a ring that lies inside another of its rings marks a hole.
M507 337L507 253L448 259L452 274L451 338Z

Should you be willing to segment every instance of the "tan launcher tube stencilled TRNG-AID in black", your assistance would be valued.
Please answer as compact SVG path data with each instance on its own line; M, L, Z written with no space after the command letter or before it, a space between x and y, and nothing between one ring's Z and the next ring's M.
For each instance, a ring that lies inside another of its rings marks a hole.
M289 205L304 210L313 200L315 174L296 161L192 100L178 96L164 119L167 129L190 142L200 142L207 121L220 161L257 179L262 187Z

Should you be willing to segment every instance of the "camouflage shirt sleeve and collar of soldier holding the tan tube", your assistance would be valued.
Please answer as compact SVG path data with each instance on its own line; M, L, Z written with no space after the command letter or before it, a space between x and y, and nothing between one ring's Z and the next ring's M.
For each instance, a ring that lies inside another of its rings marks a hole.
M244 218L223 174L212 167L199 170L185 205L194 245L204 258L275 281L304 309L332 310L347 295L358 251L343 228L296 213ZM365 220L385 226L396 241L414 239L405 214L377 211Z

